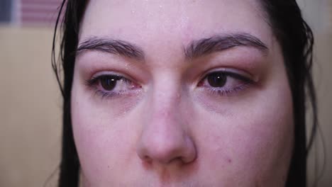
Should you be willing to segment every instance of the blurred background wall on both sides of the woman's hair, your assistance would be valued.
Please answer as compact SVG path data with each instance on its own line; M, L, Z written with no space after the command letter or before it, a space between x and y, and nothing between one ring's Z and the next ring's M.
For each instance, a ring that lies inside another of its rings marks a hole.
M0 186L43 186L49 178L46 186L56 186L61 97L50 53L60 0L46 1L30 1L39 2L33 6L24 4L28 0L0 0ZM319 186L328 187L332 183L332 1L299 0L299 5L316 36L314 74L325 140L323 154L321 134L316 139L308 177L313 183L319 176L325 155ZM15 9L18 13L13 13Z

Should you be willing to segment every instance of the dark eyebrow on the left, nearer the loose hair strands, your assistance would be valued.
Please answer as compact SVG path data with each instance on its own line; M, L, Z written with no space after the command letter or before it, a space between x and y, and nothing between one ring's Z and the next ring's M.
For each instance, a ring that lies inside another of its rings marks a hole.
M88 50L107 52L114 55L133 58L135 60L144 59L144 52L140 47L124 40L113 40L96 36L87 38L79 44L79 47L77 47L76 55L80 55Z

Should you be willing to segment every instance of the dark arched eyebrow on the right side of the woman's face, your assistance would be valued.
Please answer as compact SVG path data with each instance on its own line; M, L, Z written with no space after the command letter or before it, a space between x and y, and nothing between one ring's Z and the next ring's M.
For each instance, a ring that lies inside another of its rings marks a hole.
M248 33L233 33L228 35L214 35L211 38L195 40L184 48L187 59L209 55L214 52L221 52L233 47L255 47L264 55L268 53L268 47L257 37Z

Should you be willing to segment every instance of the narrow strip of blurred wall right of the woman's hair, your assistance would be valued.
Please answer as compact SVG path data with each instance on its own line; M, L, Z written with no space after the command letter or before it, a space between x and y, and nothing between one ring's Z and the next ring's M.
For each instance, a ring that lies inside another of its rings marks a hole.
M320 129L309 157L308 178L313 183L315 178L320 177L318 186L328 187L332 186L332 0L297 1L316 40L314 81L319 103Z

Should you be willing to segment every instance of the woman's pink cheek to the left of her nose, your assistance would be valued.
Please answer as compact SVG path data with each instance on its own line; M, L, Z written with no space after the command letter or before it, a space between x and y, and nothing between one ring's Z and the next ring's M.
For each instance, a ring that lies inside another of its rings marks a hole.
M100 181L115 181L121 176L119 169L126 168L136 155L133 120L124 115L134 107L133 102L99 106L74 84L71 107L74 142L82 174L89 180L86 183L94 186Z

